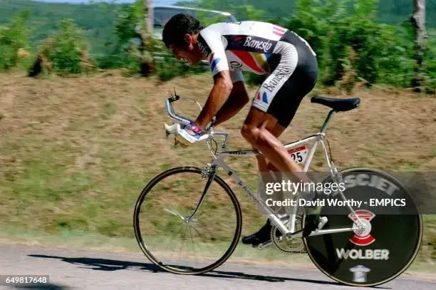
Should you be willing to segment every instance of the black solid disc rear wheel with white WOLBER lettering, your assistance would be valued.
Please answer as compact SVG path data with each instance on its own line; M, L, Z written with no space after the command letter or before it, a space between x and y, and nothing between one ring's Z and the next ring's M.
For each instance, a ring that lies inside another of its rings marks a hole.
M352 168L341 175L346 200L362 204L354 205L355 214L351 214L327 205L327 200L343 200L341 195L327 197L321 210L321 216L328 218L323 229L352 228L355 216L367 227L306 237L306 250L318 269L336 281L351 286L383 284L402 274L415 259L422 239L420 211L409 190L385 172ZM332 182L331 177L324 182Z

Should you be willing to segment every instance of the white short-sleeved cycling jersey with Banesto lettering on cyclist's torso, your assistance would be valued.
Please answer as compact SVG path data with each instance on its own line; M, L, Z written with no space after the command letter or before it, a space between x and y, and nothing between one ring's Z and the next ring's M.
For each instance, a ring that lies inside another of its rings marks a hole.
M290 48L292 39L283 39L287 31L281 26L260 21L212 24L200 31L198 46L207 57L213 76L227 70L235 72L231 73L233 81L239 81L242 80L239 71L270 74L274 70L270 61L272 56L279 56L281 62L292 63L290 67L296 66L298 54ZM303 38L290 32L316 56Z

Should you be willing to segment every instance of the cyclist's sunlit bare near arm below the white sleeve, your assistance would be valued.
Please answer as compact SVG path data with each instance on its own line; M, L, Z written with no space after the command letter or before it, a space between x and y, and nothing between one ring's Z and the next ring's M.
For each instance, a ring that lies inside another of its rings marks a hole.
M194 123L200 128L204 129L212 120L212 118L217 115L219 109L222 107L227 98L229 98L232 89L233 84L229 71L221 71L217 73L214 76L214 87L209 94L209 98L207 98L202 112L199 114Z

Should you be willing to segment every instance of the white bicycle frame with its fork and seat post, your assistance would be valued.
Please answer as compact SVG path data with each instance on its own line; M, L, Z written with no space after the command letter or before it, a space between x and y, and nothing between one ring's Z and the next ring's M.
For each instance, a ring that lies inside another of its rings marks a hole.
M172 110L172 106L170 105L171 102L173 102L175 100L179 100L179 99L180 99L180 97L178 97L177 95L167 99L167 102L166 102L167 113L168 113L168 115L170 115L171 118L178 120L181 123L187 123L187 119L175 114L174 111ZM198 105L198 103L197 103L197 105ZM298 147L301 145L306 145L306 144L314 141L311 149L308 152L308 156L306 158L306 161L304 162L303 172L307 172L308 167L311 165L313 155L315 154L316 150L318 149L318 146L321 145L321 147L323 148L323 155L325 157L326 164L328 165L328 168L331 172L331 177L333 178L333 180L335 182L337 182L338 180L336 178L336 173L337 173L336 166L333 165L333 162L330 161L330 159L328 157L326 144L323 142L323 139L326 138L325 132L326 132L328 122L331 120L333 113L334 113L333 110L331 110L328 113L328 116L327 116L326 120L324 121L323 126L321 128L321 131L319 133L317 133L316 135L312 135L308 138L301 139L301 140L296 141L294 143L288 143L285 145L285 148L286 148L286 150L288 150L288 149ZM221 145L221 147L224 149L227 145L229 133L227 133L227 132L214 132L212 130L212 128L209 128L209 139L208 139L209 148L211 147L211 141L214 140L214 137L223 137L224 138L224 142ZM251 198L251 200L254 200L254 202L256 202L256 204L258 204L262 209L264 209L267 217L269 217L271 222L284 234L285 237L287 237L289 239L293 239L296 237L303 237L302 230L300 230L299 232L295 232L295 220L296 220L296 212L298 209L298 205L293 206L291 209L291 214L290 214L291 219L288 221L291 224L290 224L290 229L288 229L285 226L284 222L281 222L281 219L278 217L277 214L275 214L271 210L271 208L266 204L266 202L264 202L264 200L261 200L260 197L257 197L256 195L254 195L254 193L249 189L249 187L239 178L237 173L234 172L234 170L232 170L232 168L229 167L229 165L227 165L227 163L223 159L223 157L228 156L228 155L251 157L251 156L254 156L256 154L261 154L261 152L259 152L257 150L235 150L235 151L219 151L216 153L217 154L214 154L214 159L212 160L211 164L207 167L208 180L207 180L206 185L204 186L202 196L200 197L199 202L197 203L197 207L195 207L195 209L192 212L192 214L190 215L190 217L186 218L187 222L189 222L194 217L194 215L197 213L197 210L199 209L199 207L201 207L202 202L204 201L204 198L207 195L209 185L212 183L212 180L214 179L214 176L217 172L217 167L222 167L224 170L227 171L227 174L230 177L232 177L232 179L237 183L237 185L239 185L239 187L242 188L242 191L245 192L246 195ZM346 197L343 195L343 192L341 190L339 190L338 193L341 195L343 200L346 200ZM354 209L350 205L348 205L348 208L350 209L350 212L353 213L355 215L355 217L357 217ZM363 224L360 223L359 217L357 217L357 224L358 224L358 227L363 226ZM360 226L359 226L359 224L360 224ZM309 234L309 235L315 236L315 235L319 235L319 234L352 232L354 229L355 229L355 227L348 227L348 228L341 228L341 229L324 229L324 230L319 229L319 230L316 230L314 232L311 232L311 234Z

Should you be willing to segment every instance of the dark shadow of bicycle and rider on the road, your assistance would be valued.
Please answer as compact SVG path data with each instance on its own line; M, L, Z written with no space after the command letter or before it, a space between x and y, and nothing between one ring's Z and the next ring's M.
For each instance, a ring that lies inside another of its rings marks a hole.
M47 255L38 255L38 254L29 254L29 257L36 258L47 258L47 259L60 259L62 261L66 261L67 263L84 265L88 266L88 269L99 270L99 271L116 271L123 269L133 269L137 268L139 270L146 270L152 272L165 272L160 269L155 264L150 263L137 263L132 261L118 261L111 259L95 259L95 258L68 258L68 257L57 257L57 256L47 256ZM227 279L249 279L249 280L258 280L258 281L268 281L268 282L284 282L284 281L299 281L299 282L307 282L307 283L316 283L316 284L332 284L341 286L341 284L335 281L323 281L316 279L301 279L301 278L289 278L289 277L279 277L279 276L262 276L256 274L246 274L237 271L210 271L206 274L200 274L198 276L207 276L214 278L227 278ZM388 289L383 287L373 287L377 289Z

